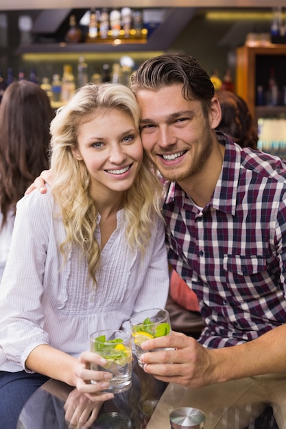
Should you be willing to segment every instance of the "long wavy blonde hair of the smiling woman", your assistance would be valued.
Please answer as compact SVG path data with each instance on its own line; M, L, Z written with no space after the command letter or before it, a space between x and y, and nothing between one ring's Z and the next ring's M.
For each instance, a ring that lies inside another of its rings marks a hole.
M51 122L52 193L60 206L66 239L60 249L67 258L72 245L86 254L88 273L96 284L100 265L100 248L95 240L97 208L89 192L90 175L82 160L72 149L78 147L78 127L90 120L97 110L117 109L128 114L139 130L140 110L132 91L121 84L87 84L80 88L69 103L60 108ZM127 221L128 245L143 252L150 238L155 215L160 215L161 184L146 154L131 188L126 191L124 213Z

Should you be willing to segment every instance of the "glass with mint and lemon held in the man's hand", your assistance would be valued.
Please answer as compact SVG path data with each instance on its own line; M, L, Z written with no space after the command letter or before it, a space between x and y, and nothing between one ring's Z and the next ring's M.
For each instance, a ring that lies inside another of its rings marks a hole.
M158 338L158 336L169 335L171 333L169 312L164 308L142 310L134 313L129 321L138 364L139 367L143 368L141 356L147 353L148 350L142 350L141 344L149 339ZM150 352L156 352L157 350L173 349L154 349L150 350Z

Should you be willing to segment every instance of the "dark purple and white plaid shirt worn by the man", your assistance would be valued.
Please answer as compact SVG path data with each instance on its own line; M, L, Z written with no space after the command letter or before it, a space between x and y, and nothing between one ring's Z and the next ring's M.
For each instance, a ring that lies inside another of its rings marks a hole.
M208 204L171 183L163 207L169 262L198 295L211 348L286 321L286 161L217 136L226 152Z

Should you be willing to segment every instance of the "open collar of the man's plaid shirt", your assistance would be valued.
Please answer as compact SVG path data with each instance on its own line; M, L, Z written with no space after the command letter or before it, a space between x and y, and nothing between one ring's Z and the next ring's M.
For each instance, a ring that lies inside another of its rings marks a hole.
M237 201L237 186L239 171L241 166L241 147L233 143L226 134L216 132L217 139L221 145L225 145L224 163L222 171L217 180L215 191L206 207L212 206L216 210L235 215ZM172 201L178 208L189 206L193 208L193 203L188 195L182 190L178 183L172 182L166 195L165 204ZM206 209L206 208L205 208ZM198 210L195 208L195 210Z

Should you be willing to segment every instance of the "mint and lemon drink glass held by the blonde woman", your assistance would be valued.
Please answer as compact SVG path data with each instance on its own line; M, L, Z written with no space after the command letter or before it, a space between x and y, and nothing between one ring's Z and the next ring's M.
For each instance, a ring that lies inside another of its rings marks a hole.
M100 330L93 332L90 339L91 352L97 353L107 360L105 366L91 364L91 369L112 373L110 386L104 392L121 393L130 389L132 335L123 330ZM91 383L97 383L97 380L91 380Z

